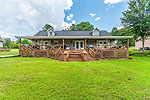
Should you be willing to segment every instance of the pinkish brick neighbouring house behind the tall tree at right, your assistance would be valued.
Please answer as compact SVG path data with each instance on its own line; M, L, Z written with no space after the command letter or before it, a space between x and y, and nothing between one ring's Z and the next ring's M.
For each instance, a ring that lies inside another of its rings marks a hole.
M145 40L144 49L150 50L150 37ZM142 50L142 41L135 41L135 49Z

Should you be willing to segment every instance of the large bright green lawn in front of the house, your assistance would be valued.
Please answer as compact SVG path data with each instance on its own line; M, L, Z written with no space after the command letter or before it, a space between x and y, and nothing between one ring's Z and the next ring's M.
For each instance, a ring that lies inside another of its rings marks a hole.
M150 99L150 57L135 60L60 62L0 59L0 99Z

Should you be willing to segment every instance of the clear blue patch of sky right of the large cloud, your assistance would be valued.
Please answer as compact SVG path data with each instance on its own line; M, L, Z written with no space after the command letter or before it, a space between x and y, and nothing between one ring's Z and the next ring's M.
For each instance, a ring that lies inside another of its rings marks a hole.
M73 0L71 10L65 12L65 21L70 22L67 20L67 16L73 14L73 20L76 20L76 24L89 21L95 27L111 31L113 27L121 24L120 17L126 9L127 1L105 4L103 0ZM91 17L90 13L96 15ZM100 17L100 20L95 21L97 17Z

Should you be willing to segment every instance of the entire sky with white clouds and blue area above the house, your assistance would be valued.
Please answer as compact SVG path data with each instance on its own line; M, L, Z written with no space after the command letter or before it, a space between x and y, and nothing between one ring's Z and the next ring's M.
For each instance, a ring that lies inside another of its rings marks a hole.
M62 30L89 21L101 30L118 27L128 0L0 0L0 35L33 36L45 24Z

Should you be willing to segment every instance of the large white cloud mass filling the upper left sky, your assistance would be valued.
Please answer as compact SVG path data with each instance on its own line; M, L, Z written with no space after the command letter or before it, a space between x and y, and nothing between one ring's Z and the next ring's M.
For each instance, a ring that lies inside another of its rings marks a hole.
M47 23L63 29L64 10L72 5L72 0L0 0L0 35L32 36Z

